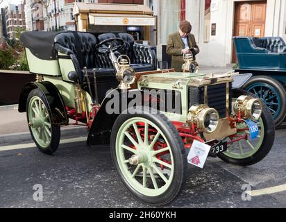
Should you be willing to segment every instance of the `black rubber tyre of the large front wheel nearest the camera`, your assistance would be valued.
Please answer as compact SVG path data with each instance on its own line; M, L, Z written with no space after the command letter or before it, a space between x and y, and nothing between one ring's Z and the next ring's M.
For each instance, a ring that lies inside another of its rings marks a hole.
M110 139L112 161L120 180L124 183L127 189L131 191L131 193L137 199L149 205L163 206L173 201L178 196L183 185L185 185L185 181L187 178L187 155L185 153L183 140L178 134L178 131L174 127L173 123L171 123L171 121L169 121L164 114L161 113L151 114L151 112L147 114L147 112L150 110L149 108L142 108L142 107L137 108L137 110L141 112L143 109L146 110L146 112L142 114L130 114L129 112L127 114L120 114L117 120L115 121L115 124L112 128L111 139ZM142 117L155 123L156 126L158 126L160 130L162 130L162 133L165 134L166 139L168 140L171 146L172 153L174 156L174 178L173 181L171 182L169 189L167 189L167 191L165 191L165 193L161 194L160 196L155 196L155 197L145 196L143 194L140 194L140 192L136 191L131 185L128 184L126 178L124 178L124 176L121 173L119 164L117 163L117 157L115 151L117 132L125 121L133 117Z

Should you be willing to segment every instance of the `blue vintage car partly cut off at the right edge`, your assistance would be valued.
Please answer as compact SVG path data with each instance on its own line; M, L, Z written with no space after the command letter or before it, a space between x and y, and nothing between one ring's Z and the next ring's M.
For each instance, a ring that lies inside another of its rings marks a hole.
M286 44L281 37L233 37L239 74L251 73L243 87L271 111L276 126L286 117Z

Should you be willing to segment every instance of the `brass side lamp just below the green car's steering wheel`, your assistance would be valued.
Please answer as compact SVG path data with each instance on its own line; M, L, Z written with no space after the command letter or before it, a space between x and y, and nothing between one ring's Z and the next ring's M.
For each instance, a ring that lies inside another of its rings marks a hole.
M135 71L129 66L131 64L128 56L122 55L117 59L119 71L116 78L120 82L121 89L128 89L135 82Z

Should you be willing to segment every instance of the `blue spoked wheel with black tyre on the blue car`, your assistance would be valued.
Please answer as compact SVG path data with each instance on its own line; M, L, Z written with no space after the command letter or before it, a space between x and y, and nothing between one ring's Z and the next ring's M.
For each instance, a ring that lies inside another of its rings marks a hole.
M264 101L276 126L284 121L286 117L286 92L281 83L269 76L255 76L244 85L244 89Z

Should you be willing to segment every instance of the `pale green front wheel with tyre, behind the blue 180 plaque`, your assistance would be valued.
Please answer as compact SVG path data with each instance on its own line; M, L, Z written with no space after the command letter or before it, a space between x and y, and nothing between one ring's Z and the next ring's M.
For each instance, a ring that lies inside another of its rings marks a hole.
M241 95L253 96L249 92L236 89L233 92L233 102ZM275 138L274 121L267 107L263 106L262 117L256 122L259 128L258 137L251 140L246 123L237 123L237 134L224 139L228 142L228 150L219 154L221 160L239 166L249 166L260 162L269 153Z

